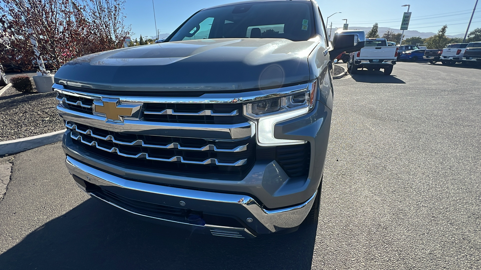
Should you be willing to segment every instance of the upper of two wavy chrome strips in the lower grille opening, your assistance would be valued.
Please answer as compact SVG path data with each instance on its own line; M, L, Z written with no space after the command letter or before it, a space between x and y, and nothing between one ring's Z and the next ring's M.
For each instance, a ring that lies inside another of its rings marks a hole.
M177 148L179 150L194 150L194 151L207 151L207 150L214 150L215 152L241 152L247 149L247 145L242 145L239 147L235 147L233 149L219 149L215 145L206 145L204 147L181 147L178 143L171 143L169 145L163 146L163 145L150 145L144 143L142 140L136 140L130 143L123 142L123 141L118 141L114 138L112 135L107 135L107 136L99 136L95 135L91 129L88 129L86 131L83 131L77 127L76 124L72 123L66 123L65 127L71 130L75 130L78 133L85 134L85 135L90 135L94 138L101 139L104 141L112 141L113 143L119 144L119 145L127 145L127 146L143 146L143 147L152 147L152 148L162 148L162 149L171 149L171 148Z

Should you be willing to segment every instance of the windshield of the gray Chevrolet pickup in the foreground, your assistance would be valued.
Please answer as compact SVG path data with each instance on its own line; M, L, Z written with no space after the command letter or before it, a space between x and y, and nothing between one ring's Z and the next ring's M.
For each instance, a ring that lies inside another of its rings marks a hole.
M192 16L170 40L206 38L286 38L315 34L311 2L264 2L218 7Z

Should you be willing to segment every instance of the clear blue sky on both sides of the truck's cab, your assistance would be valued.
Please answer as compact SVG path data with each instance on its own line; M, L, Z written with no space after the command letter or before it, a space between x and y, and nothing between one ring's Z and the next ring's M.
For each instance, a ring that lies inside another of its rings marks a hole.
M442 25L447 24L447 34L457 35L464 33L468 26L469 17L476 0L318 0L321 12L326 20L329 18L333 27L342 27L348 19L350 29L352 26L370 27L379 23L380 27L399 29L403 12L410 4L412 12L409 30L436 33ZM154 0L157 28L161 33L171 33L178 25L190 15L200 9L237 2L237 0ZM125 5L127 15L126 24L132 25L135 33L132 37L153 36L155 25L153 20L152 0L127 0ZM330 24L330 23L329 23ZM481 28L481 1L469 30Z

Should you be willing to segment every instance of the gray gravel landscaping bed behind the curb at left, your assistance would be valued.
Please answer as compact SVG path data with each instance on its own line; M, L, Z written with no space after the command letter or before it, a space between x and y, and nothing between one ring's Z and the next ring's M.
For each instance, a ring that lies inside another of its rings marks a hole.
M10 87L0 96L0 141L63 130L57 104L54 92L21 93Z

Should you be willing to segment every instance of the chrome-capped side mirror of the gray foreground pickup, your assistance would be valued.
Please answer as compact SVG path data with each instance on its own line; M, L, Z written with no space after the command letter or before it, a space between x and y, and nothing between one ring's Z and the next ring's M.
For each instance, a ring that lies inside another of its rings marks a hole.
M342 52L358 51L366 43L366 33L363 30L338 30L332 38L332 50L329 51L330 60L334 60Z

